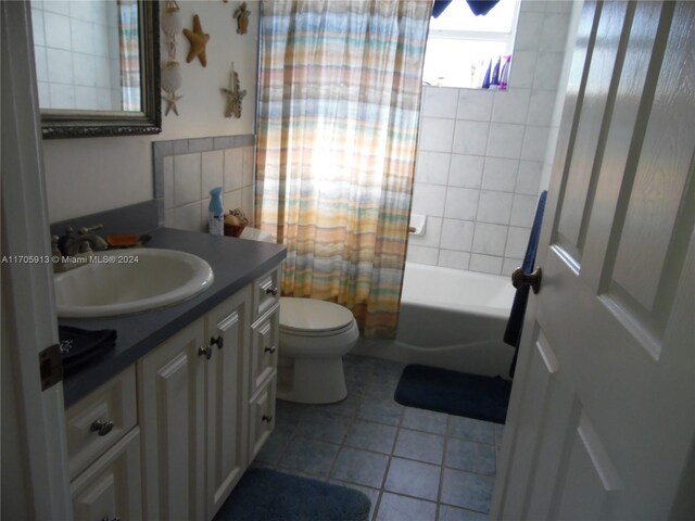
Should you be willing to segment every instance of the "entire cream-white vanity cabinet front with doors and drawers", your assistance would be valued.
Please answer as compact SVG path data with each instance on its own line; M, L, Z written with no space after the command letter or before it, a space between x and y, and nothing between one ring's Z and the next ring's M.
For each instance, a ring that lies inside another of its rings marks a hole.
M279 270L66 414L76 520L211 520L275 425Z

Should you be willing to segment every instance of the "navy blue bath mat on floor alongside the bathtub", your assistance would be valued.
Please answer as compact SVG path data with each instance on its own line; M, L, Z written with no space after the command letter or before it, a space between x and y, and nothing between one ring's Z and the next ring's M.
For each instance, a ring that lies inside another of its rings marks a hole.
M410 365L403 369L395 401L407 407L504 423L510 391L511 382L500 377Z

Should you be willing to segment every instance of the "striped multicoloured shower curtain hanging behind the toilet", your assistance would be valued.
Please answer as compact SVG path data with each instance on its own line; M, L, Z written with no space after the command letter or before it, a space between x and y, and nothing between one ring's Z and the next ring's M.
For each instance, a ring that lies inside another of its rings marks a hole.
M287 245L285 295L393 338L431 1L266 1L255 221Z

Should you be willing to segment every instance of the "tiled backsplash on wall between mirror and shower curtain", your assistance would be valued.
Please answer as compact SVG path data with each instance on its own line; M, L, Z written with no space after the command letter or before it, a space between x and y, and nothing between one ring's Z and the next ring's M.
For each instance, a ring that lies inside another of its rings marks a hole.
M223 187L225 213L253 220L255 137L225 136L152 143L160 225L207 231L210 190Z

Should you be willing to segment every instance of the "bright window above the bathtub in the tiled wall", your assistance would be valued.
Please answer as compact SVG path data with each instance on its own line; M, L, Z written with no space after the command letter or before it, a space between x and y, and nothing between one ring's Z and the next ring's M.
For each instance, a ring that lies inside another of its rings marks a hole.
M488 14L476 16L466 0L454 0L439 17L432 17L424 81L440 87L483 87L488 69L492 72L497 62L502 67L506 56L511 56L519 2L500 0Z

